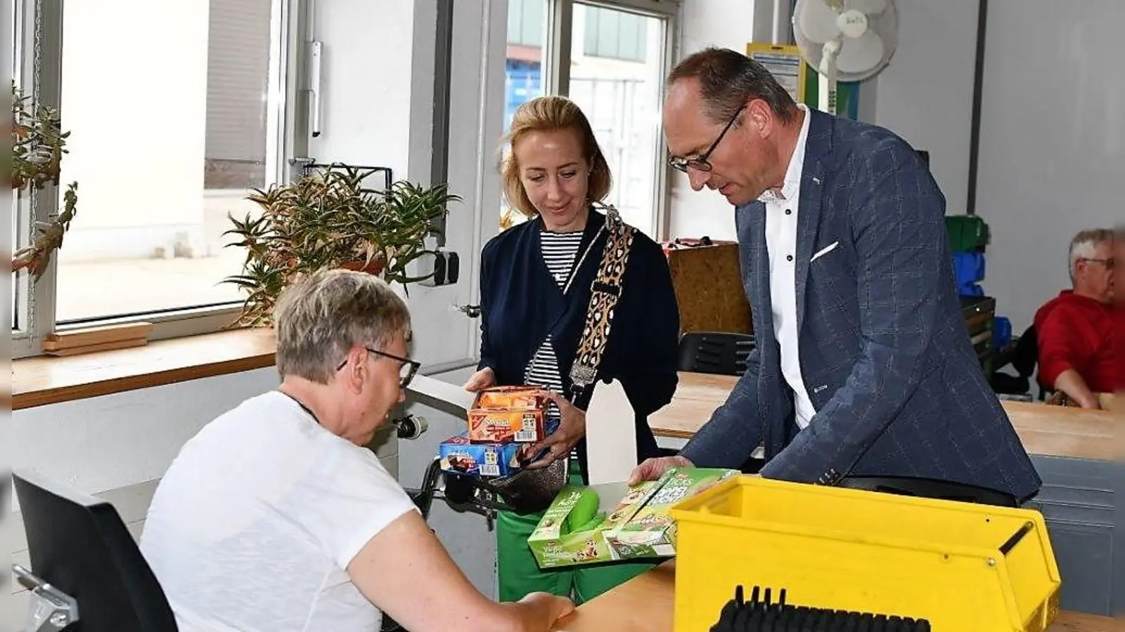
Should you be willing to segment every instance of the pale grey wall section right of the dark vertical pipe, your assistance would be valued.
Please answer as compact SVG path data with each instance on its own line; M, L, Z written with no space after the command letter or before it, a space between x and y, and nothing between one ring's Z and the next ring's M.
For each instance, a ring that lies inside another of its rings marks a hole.
M1074 233L1125 219L1122 25L1120 0L989 3L976 213L984 290L1017 333L1070 287Z

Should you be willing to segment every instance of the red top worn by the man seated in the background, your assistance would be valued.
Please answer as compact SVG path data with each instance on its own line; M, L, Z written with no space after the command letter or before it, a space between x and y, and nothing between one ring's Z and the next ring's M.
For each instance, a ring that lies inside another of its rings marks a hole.
M1074 369L1094 392L1114 392L1122 383L1110 305L1063 290L1035 313L1040 383L1054 388L1059 374Z

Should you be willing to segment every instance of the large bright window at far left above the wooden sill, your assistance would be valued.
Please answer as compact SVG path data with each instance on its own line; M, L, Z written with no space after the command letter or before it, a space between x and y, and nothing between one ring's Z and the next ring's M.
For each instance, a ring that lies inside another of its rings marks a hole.
M153 337L166 337L226 325L244 298L222 282L244 258L226 246L227 216L255 214L249 189L286 173L287 18L297 3L16 4L37 33L37 46L17 54L38 55L38 99L57 103L70 133L60 181L78 183L51 270L14 279L17 356L36 354L55 329L148 320ZM40 219L58 206L51 193L37 200ZM16 215L26 243L32 210Z

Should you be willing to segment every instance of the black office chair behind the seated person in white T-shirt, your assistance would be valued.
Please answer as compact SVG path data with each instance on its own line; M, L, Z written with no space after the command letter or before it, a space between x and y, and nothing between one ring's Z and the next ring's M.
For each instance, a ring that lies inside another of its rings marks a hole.
M58 613L27 632L75 621L68 632L177 632L164 590L112 505L34 472L15 472L12 482L32 560L30 570L14 571Z

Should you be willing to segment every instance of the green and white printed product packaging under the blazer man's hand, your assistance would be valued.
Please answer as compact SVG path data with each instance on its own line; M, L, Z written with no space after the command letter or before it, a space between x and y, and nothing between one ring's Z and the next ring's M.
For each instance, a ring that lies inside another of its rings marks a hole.
M659 480L631 488L623 482L565 487L528 538L528 545L540 568L673 557L676 554L675 521L668 516L668 508L738 473L737 470L676 468L665 472ZM591 491L597 495L595 517L585 524L572 525L574 515L590 513ZM638 518L642 522L633 524Z

